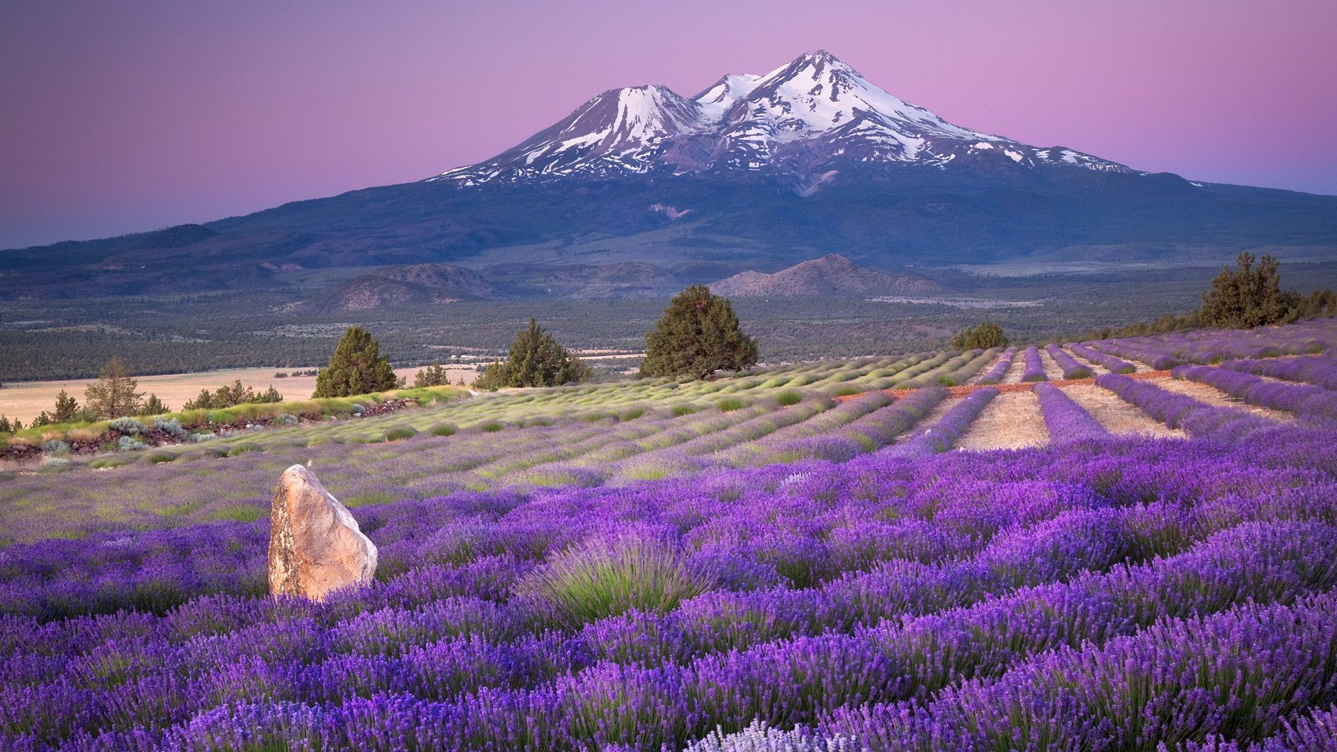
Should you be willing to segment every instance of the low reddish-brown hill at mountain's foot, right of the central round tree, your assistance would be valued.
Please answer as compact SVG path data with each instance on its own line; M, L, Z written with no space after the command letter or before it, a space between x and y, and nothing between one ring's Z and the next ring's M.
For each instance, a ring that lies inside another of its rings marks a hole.
M860 266L838 253L796 264L774 274L743 272L710 289L725 297L852 297L932 293L941 285L915 274L888 274Z

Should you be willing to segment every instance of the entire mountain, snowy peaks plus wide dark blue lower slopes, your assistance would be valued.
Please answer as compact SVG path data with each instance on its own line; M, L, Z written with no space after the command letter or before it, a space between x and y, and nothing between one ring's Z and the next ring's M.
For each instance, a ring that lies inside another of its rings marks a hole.
M660 296L828 253L897 274L1218 262L1239 250L1333 258L1337 197L1194 183L965 128L817 52L691 98L614 90L425 181L0 252L0 300L225 289L306 300L305 280L338 278L330 269L420 264L467 266L512 294ZM386 300L417 294L373 282Z

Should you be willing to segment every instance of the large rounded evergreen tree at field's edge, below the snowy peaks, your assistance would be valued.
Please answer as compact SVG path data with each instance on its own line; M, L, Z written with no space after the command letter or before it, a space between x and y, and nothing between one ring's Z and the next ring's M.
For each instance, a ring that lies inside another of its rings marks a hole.
M743 333L729 301L706 285L678 293L646 335L640 376L693 376L757 365L757 340Z

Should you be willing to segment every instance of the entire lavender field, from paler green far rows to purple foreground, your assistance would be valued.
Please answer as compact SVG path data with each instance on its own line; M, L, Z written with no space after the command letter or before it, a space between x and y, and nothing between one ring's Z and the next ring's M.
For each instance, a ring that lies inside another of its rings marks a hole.
M1330 345L925 353L53 456L0 474L0 748L1337 748ZM294 463L373 583L267 595Z

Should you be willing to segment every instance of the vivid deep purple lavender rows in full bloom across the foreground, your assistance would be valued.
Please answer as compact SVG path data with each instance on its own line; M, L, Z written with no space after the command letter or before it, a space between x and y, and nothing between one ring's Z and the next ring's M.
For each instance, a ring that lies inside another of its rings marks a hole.
M11 546L3 745L1259 741L1337 698L1337 435L1258 431L389 503L322 605L258 597L263 523Z

